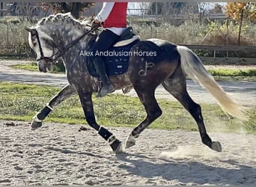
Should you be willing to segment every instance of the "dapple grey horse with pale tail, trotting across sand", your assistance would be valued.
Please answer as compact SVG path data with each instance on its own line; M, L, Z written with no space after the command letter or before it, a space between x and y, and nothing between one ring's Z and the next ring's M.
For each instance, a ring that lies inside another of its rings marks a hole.
M87 24L88 22L86 22ZM73 93L78 93L85 119L89 126L95 129L100 136L109 142L112 150L121 151L122 143L104 126L100 126L94 116L92 94L98 91L98 79L88 71L87 58L80 57L81 49L88 49L91 40L96 35L90 32L85 22L73 19L70 14L58 13L40 20L29 31L29 43L37 54L38 68L46 72L52 64L52 58L61 56L66 68L69 85L65 86L49 103L34 117L31 126L40 127L43 120L64 99ZM217 100L219 105L228 114L234 117L245 117L243 107L234 102L225 91L215 82L210 73L204 68L200 59L185 46L177 46L165 40L149 39L135 43L130 49L129 68L126 73L110 76L115 90L134 88L138 98L144 105L147 116L128 135L125 147L135 144L141 132L147 128L162 110L156 102L156 88L162 84L166 91L171 93L195 119L201 141L216 151L222 151L218 141L212 141L204 126L201 106L195 103L186 91L186 75L201 84ZM156 55L136 55L140 52L153 52ZM60 55L61 54L61 55Z

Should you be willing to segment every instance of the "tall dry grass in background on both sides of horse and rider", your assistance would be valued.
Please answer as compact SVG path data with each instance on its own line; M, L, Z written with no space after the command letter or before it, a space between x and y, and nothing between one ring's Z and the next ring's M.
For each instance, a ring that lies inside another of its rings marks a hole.
M6 52L7 32L9 46L16 46L14 52L24 52L27 50L25 43L28 43L28 33L25 26L31 26L29 22L1 22L0 20L0 53ZM159 27L154 25L132 24L135 33L142 39L159 38L177 44L208 44L208 45L237 45L239 25L230 22L227 26L220 22L210 22L209 24L199 24L197 22L186 21L183 25L174 26L169 23L162 23ZM228 41L227 41L228 34ZM243 46L256 45L256 24L243 22L240 43ZM5 51L1 48L5 47ZM25 48L25 49L22 49ZM10 53L10 51L9 51Z

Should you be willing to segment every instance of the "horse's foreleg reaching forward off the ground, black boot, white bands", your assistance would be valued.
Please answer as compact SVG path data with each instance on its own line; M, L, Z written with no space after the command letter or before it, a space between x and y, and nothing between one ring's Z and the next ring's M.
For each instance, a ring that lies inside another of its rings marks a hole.
M42 126L43 120L48 116L54 107L61 104L65 99L69 98L76 90L71 85L66 85L57 93L49 103L33 117L31 122L31 129L37 129Z

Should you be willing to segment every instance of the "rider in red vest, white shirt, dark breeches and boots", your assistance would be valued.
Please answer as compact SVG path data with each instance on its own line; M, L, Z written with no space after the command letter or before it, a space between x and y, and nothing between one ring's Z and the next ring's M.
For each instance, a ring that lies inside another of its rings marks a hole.
M127 27L127 4L127 2L103 2L100 13L91 23L92 29L103 27L103 31L97 37L92 49L94 55L96 52L108 50L125 31ZM115 88L106 74L106 65L103 58L100 55L95 55L93 61L103 83L103 88L97 96L106 96L106 94L115 91Z

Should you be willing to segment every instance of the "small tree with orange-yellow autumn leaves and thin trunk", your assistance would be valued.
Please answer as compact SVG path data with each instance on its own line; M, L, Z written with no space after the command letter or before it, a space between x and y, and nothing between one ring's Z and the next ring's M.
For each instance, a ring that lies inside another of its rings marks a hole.
M249 20L251 22L256 20L256 3L255 2L231 2L228 3L226 8L226 14L232 19L239 22L238 33L238 45L240 46L240 36L243 20Z

